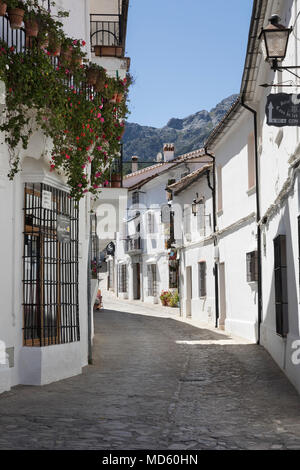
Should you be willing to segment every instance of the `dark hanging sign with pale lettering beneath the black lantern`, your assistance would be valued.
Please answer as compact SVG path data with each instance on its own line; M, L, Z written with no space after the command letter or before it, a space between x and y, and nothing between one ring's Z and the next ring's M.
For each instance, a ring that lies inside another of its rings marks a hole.
M300 126L300 94L276 93L267 96L268 126Z

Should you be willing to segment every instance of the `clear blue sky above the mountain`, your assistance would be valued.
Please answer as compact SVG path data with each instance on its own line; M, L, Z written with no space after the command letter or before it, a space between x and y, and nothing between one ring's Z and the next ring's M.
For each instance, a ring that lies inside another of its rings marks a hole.
M129 122L162 127L240 89L252 0L130 0Z

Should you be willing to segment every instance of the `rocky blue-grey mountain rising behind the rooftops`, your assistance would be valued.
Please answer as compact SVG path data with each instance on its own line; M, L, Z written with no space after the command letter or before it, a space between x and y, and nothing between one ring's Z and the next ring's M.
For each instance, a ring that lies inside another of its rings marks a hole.
M225 98L211 111L198 111L183 119L171 118L160 129L127 122L123 136L124 160L130 161L132 155L138 155L143 161L153 162L168 142L175 144L175 155L201 148L237 96Z

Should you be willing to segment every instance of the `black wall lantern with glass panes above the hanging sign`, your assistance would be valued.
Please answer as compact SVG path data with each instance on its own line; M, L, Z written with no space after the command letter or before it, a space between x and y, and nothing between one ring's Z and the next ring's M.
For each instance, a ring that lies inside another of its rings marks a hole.
M272 62L273 70L298 68L278 66L278 62L282 62L286 56L289 35L292 31L292 28L286 28L279 21L278 15L272 15L269 19L270 23L260 33L259 37L262 38L262 47L266 59Z

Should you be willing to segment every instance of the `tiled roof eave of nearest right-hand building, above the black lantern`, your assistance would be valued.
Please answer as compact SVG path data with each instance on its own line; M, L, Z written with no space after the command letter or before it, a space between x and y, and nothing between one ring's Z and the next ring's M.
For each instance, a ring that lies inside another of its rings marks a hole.
M268 0L254 0L252 8L252 16L250 22L248 44L246 59L244 65L244 71L241 82L240 94L236 101L233 103L231 108L225 114L223 119L217 124L217 126L209 134L204 147L212 148L220 140L222 135L233 126L235 121L239 118L239 115L243 111L242 102L251 101L254 98L254 91L256 85L256 78L258 74L258 57L259 57L259 32L263 27Z

